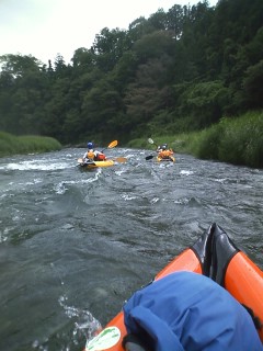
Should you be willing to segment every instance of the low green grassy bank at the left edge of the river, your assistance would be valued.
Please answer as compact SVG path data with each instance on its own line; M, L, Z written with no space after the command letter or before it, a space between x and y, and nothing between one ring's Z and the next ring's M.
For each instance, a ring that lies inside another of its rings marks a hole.
M60 149L60 143L50 137L33 135L14 136L5 132L0 132L0 157L48 152Z

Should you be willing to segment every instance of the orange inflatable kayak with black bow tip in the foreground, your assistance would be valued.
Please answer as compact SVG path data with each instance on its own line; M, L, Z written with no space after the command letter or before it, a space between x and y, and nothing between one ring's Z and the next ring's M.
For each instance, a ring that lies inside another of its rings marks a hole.
M153 281L179 271L208 276L250 309L259 322L263 322L263 272L216 224L175 257ZM263 329L258 332L263 342ZM84 351L124 351L122 341L126 335L124 313L119 312L100 333L87 341Z

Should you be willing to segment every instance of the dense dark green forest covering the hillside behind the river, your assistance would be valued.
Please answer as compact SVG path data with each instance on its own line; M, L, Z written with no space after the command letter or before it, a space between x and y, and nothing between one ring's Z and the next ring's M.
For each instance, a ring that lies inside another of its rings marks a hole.
M3 132L68 145L201 131L263 107L263 1L174 4L102 29L70 64L59 54L0 64Z

